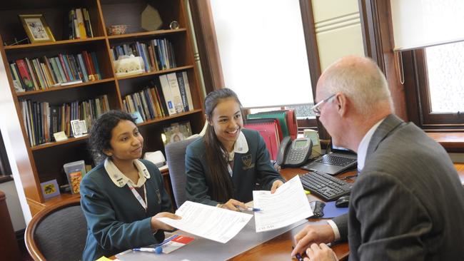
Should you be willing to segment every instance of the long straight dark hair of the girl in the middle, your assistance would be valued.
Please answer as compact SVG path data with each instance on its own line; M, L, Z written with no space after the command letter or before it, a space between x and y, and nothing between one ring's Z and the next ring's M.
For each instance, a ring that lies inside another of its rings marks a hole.
M229 88L222 88L208 93L205 98L205 113L209 121L213 116L214 108L227 98L233 98L241 106L237 94ZM208 175L211 180L211 198L224 203L226 200L233 198L232 179L227 170L228 154L226 148L216 137L213 126L209 124L206 127L205 143Z

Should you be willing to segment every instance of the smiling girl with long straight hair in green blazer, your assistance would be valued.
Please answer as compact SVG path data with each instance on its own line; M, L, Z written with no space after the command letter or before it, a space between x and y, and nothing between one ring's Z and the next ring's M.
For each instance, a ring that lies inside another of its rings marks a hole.
M253 200L257 184L271 192L283 184L261 135L243 129L236 93L228 88L209 93L205 116L206 134L186 151L188 200L238 211Z

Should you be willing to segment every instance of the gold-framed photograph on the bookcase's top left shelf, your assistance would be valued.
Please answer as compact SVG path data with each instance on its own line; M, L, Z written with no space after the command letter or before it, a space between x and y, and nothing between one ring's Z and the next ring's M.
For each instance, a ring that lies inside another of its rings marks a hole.
M20 14L19 19L31 43L55 41L43 14Z

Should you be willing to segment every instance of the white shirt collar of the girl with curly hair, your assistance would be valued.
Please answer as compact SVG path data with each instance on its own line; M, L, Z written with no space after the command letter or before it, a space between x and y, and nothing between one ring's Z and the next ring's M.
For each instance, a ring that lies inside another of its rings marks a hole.
M122 188L125 186L128 182L133 185L133 187L140 188L141 185L145 183L145 181L150 178L150 173L148 173L148 170L146 169L145 165L140 160L133 160L134 165L136 165L136 168L138 170L138 181L137 184L133 184L132 180L127 178L126 175L121 173L121 170L114 165L113 161L110 160L109 158L106 158L104 166L106 173L108 173L109 178L113 181L115 185L117 185L119 188Z

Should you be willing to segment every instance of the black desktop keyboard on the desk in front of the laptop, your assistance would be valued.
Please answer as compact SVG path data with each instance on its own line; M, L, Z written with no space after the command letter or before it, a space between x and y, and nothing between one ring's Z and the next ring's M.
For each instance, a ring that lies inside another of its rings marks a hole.
M343 195L350 194L353 187L343 180L318 171L303 174L300 179L303 188L326 201L333 201Z

